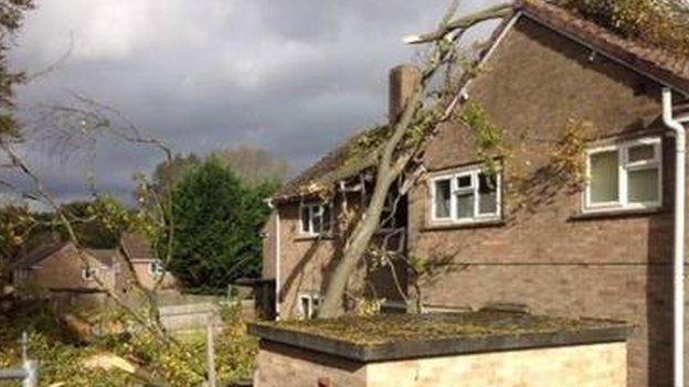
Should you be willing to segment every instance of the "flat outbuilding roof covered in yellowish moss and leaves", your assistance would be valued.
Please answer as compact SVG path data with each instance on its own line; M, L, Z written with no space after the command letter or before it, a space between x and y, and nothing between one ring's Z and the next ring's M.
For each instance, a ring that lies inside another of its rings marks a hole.
M275 342L359 362L507 350L624 342L632 325L481 310L467 313L383 314L332 320L261 322L250 326Z

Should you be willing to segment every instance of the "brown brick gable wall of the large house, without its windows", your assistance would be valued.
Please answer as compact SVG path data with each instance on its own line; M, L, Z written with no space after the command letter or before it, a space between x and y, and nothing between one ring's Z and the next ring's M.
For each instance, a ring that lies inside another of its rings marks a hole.
M664 138L664 203L657 213L580 219L580 193L543 174L549 146L570 118L602 138L664 135L660 87L536 23L521 19L469 87L491 121L520 143L505 171L506 223L430 227L425 182L410 201L410 250L449 254L453 271L424 284L426 304L527 303L539 313L625 319L639 325L629 346L629 386L671 384L672 141ZM527 140L518 132L527 129ZM532 140L529 140L532 139ZM470 132L447 126L430 144L431 174L478 161ZM522 185L510 181L517 172ZM510 192L526 193L516 209ZM689 333L689 332L688 332ZM689 381L689 378L687 379Z

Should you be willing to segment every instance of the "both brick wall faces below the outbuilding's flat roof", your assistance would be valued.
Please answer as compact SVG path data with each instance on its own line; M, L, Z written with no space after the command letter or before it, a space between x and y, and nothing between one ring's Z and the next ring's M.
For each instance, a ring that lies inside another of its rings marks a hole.
M254 386L624 387L626 357L611 343L363 364L262 343Z

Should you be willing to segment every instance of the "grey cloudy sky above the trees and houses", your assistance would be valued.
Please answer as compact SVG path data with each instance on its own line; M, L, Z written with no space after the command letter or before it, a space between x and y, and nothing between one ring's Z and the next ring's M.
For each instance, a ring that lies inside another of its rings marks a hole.
M11 63L51 73L18 90L36 106L80 93L116 107L180 152L252 144L299 171L358 128L385 119L388 69L447 0L36 0ZM462 11L490 0L464 1ZM63 197L84 193L80 159L33 160ZM127 196L144 149L98 149L99 189Z

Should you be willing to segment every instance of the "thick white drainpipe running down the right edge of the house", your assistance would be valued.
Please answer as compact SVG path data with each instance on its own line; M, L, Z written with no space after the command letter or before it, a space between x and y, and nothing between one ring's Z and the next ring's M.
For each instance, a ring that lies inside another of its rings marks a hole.
M675 387L685 386L685 163L687 135L682 122L689 117L672 117L672 90L662 88L662 122L675 131Z

